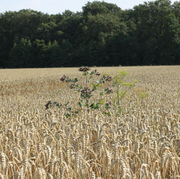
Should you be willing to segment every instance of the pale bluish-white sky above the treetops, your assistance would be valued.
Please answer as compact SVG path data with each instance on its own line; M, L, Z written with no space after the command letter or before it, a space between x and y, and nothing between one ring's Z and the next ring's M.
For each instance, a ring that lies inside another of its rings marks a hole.
M73 12L81 11L82 6L93 0L0 0L0 13L5 11L18 11L21 9L33 9L49 14L62 13L65 10ZM105 0L105 2L118 5L122 9L130 9L133 6L147 2L148 0ZM175 0L171 0L175 2Z

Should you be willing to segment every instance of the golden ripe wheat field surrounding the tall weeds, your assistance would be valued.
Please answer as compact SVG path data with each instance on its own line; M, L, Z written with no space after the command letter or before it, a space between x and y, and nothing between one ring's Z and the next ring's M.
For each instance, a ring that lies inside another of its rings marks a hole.
M96 69L137 81L120 116L45 109L75 106L77 68L0 70L0 179L180 178L180 66Z

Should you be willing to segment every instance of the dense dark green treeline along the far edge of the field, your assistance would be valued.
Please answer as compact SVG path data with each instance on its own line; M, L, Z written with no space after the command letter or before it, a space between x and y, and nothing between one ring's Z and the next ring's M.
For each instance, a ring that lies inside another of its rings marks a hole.
M180 2L0 14L0 68L180 64Z

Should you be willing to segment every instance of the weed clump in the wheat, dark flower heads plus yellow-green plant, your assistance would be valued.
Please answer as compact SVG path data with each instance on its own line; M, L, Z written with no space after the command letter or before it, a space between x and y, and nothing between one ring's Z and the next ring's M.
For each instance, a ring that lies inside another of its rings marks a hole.
M112 77L108 74L101 74L97 70L91 70L89 67L79 68L82 76L80 78L69 78L63 75L60 81L67 83L69 88L78 92L79 99L77 107L79 110L73 110L67 105L55 105L57 107L65 106L67 111L66 117L78 114L78 111L99 110L103 114L110 115L109 110L115 112L121 111L121 100L126 96L127 92L135 85L132 82L125 82L126 72L120 72ZM109 97L110 96L110 97ZM113 98L114 97L114 98Z

